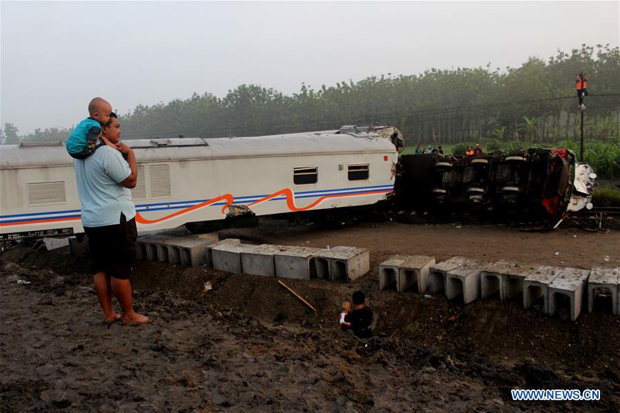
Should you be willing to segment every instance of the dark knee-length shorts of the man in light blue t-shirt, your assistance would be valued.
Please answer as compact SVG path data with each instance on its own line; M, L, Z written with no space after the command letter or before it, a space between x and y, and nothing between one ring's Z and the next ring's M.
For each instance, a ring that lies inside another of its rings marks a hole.
M129 279L138 238L136 220L132 218L127 221L121 214L118 225L84 227L84 232L94 260L92 270L95 273L105 271L115 279Z

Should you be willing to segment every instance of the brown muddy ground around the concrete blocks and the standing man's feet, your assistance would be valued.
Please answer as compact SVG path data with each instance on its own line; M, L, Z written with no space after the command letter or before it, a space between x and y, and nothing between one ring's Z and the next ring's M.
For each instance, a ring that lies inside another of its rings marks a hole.
M136 308L155 322L108 329L87 258L12 248L0 254L0 411L620 410L620 316L606 303L571 323L566 310L463 306L379 291L377 280L398 253L612 267L620 232L267 220L220 236L368 248L371 272L350 284L287 281L314 314L275 279L139 261ZM340 301L358 289L378 314L369 340L336 328ZM601 400L515 402L512 388L599 389Z

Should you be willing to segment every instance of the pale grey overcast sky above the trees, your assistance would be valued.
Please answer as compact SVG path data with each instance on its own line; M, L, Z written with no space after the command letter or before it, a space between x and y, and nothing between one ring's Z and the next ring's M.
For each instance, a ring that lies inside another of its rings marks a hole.
M218 97L241 83L290 94L373 74L519 66L619 43L619 2L1 1L0 121L71 126L88 101Z

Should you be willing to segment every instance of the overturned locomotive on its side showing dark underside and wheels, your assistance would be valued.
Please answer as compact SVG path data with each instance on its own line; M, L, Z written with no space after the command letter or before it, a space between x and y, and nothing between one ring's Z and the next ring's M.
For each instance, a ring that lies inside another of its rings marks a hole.
M592 208L595 179L589 165L561 148L465 157L405 155L396 191L401 204L419 208L468 206L552 220Z

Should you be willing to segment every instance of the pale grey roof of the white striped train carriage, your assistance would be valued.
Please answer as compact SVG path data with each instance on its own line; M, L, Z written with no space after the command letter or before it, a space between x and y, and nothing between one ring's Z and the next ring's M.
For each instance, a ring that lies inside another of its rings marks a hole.
M395 152L394 145L376 132L342 134L338 131L305 132L264 137L129 139L138 161L186 161L294 156L326 153ZM0 168L71 165L65 145L22 143L0 145Z

